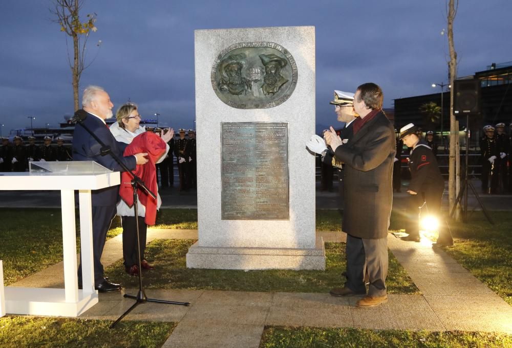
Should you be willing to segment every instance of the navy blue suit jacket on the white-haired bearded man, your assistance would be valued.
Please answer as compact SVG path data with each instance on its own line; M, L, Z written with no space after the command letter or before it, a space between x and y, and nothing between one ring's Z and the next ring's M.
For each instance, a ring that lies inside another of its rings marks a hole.
M110 146L112 153L115 153L120 160L133 170L137 165L135 156L123 156L126 144L119 143L110 132L110 129L97 117L88 113L88 116L83 120L86 125L106 146ZM79 123L75 126L73 133L73 160L93 160L105 168L111 169L116 172L123 172L124 169L117 163L114 157L107 153L101 155L101 145L92 137L87 130L85 130ZM108 206L115 205L119 197L119 185L92 191L92 205L93 206Z

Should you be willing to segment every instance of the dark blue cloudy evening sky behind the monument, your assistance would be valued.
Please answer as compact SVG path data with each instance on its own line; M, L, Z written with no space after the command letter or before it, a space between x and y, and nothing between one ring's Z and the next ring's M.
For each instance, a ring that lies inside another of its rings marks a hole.
M0 1L0 122L12 128L58 126L73 112L65 34L50 0ZM85 0L96 12L81 89L103 86L117 106L131 99L143 117L194 126L194 30L314 26L316 123L335 124L334 89L378 83L385 107L401 97L431 94L447 81L444 0ZM512 61L510 0L461 0L455 20L458 76ZM96 44L101 40L98 51ZM293 52L292 52L293 53ZM89 60L90 61L90 60ZM208 74L209 72L205 72ZM115 110L114 110L115 111Z

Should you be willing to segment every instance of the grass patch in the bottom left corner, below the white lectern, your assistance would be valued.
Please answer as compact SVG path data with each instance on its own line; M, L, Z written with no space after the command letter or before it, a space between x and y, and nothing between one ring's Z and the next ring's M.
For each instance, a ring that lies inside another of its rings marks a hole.
M0 318L0 348L159 348L173 322L8 316Z

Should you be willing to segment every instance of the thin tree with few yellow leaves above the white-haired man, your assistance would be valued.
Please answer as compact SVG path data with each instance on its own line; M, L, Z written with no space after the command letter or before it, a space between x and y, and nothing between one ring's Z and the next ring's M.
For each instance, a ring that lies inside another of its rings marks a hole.
M78 110L78 88L80 85L80 76L84 69L89 65L86 61L86 44L91 31L95 32L96 13L88 14L87 20L80 20L79 12L83 5L83 0L52 0L53 7L50 12L55 19L52 21L60 25L60 31L66 33L66 47L68 53L68 62L73 77L73 100L74 110ZM70 48L68 45L68 36L73 40L73 61L71 61ZM101 42L101 41L99 41ZM99 46L99 43L98 43Z

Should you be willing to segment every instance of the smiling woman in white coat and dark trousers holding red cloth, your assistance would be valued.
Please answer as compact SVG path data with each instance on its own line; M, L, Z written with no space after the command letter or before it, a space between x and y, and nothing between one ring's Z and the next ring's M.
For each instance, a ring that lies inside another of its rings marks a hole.
M133 139L144 133L146 130L143 126L140 126L140 114L137 110L137 105L134 103L126 103L122 105L116 112L117 122L110 126L110 131L118 142L130 144ZM162 140L167 143L174 136L174 130L170 129L166 134L162 135ZM157 163L160 163L165 159L169 146L167 145L165 153L160 157ZM160 208L162 200L160 195L157 194L157 208ZM147 225L144 221L146 214L145 206L138 200L138 221L139 221L139 238L140 238L140 265L143 269L153 269L144 259L144 250L146 248L146 233ZM124 269L130 275L138 275L138 260L137 260L137 231L136 231L136 220L134 207L128 206L122 199L117 203L117 215L121 217L121 223L123 227L123 259Z

